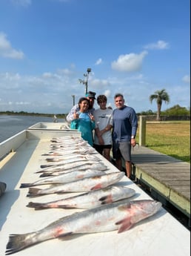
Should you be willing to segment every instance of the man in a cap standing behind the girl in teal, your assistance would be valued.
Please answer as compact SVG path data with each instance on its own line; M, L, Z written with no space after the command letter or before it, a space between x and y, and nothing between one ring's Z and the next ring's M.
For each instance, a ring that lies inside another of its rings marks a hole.
M86 98L89 99L89 109L88 109L88 112L90 114L93 114L93 111L95 111L95 108L93 108L93 105L94 105L94 100L96 99L96 93L94 93L93 91L88 91L86 93ZM70 112L67 114L67 122L72 122L73 119L74 119L74 114L78 113L78 111L80 110L78 104L74 105L73 108L71 108Z

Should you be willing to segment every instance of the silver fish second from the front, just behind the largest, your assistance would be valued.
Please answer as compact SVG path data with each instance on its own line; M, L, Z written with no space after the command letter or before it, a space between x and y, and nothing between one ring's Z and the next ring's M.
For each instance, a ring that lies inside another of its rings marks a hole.
M133 197L135 190L125 186L108 186L98 190L79 194L73 197L67 197L48 203L28 203L27 207L35 208L35 210L62 208L62 209L92 209L107 203Z

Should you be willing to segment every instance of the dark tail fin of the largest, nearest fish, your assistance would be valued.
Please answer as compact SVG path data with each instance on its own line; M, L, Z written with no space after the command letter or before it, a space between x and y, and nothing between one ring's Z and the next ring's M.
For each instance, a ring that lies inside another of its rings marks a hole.
M5 255L12 255L13 253L19 252L24 248L32 246L34 242L30 238L27 239L27 236L28 234L10 234Z

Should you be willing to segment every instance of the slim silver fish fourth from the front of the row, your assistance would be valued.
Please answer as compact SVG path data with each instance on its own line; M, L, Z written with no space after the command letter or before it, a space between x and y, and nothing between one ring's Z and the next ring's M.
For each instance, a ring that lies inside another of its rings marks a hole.
M91 177L91 176L103 175L103 174L104 174L104 171L96 171L92 169L81 170L81 171L68 171L61 175L36 180L34 183L21 183L20 188L28 188L28 187L38 186L38 185L47 185L47 184L70 183L72 181L79 180L84 177Z

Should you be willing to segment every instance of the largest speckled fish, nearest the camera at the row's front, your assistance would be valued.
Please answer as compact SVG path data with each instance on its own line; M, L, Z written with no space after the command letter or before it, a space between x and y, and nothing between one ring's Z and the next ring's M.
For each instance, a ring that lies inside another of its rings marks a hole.
M155 200L129 201L126 199L71 214L36 232L10 234L6 255L19 252L45 240L67 237L71 234L113 230L118 230L118 233L121 233L130 229L135 223L152 216L160 208L161 203Z

